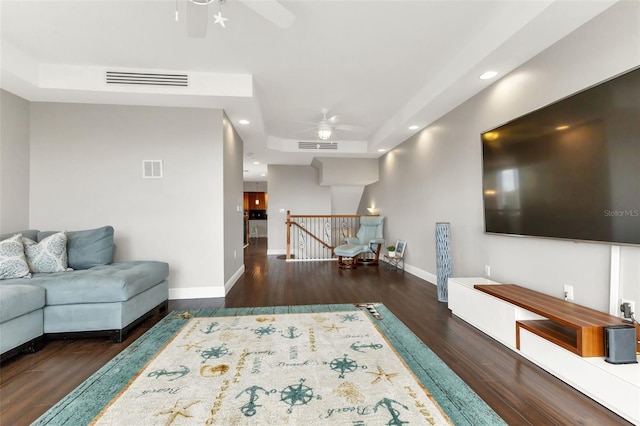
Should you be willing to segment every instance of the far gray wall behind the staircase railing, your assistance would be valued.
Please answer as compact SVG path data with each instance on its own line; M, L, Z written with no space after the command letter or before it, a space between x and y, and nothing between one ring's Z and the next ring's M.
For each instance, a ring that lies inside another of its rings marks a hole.
M287 210L294 215L331 214L331 188L318 186L318 171L311 166L269 166L268 254L287 250Z

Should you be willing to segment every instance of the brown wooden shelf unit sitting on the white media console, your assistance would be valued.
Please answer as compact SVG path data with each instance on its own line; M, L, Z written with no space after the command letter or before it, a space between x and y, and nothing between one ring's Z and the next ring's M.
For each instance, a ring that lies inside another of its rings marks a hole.
M604 327L622 324L612 315L515 284L476 284L474 288L546 318L516 321L518 349L520 328L524 328L579 356L605 356Z

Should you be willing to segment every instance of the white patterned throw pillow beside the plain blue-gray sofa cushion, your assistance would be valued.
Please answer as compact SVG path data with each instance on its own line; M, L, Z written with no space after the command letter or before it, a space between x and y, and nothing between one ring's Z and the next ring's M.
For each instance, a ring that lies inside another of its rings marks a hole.
M67 270L67 236L58 232L43 239L39 243L22 238L24 254L31 272L49 273Z

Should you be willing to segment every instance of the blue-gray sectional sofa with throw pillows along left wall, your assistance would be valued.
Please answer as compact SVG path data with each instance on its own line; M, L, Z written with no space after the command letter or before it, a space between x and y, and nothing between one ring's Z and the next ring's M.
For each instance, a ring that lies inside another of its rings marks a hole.
M0 361L35 351L49 338L105 335L121 342L167 308L169 265L113 263L113 234L105 226L0 235ZM19 242L30 254L26 271Z

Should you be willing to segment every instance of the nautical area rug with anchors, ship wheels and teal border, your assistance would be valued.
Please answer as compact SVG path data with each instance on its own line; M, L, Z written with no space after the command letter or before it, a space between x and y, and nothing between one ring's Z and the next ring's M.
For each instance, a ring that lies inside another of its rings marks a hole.
M504 422L366 304L172 312L34 424Z

